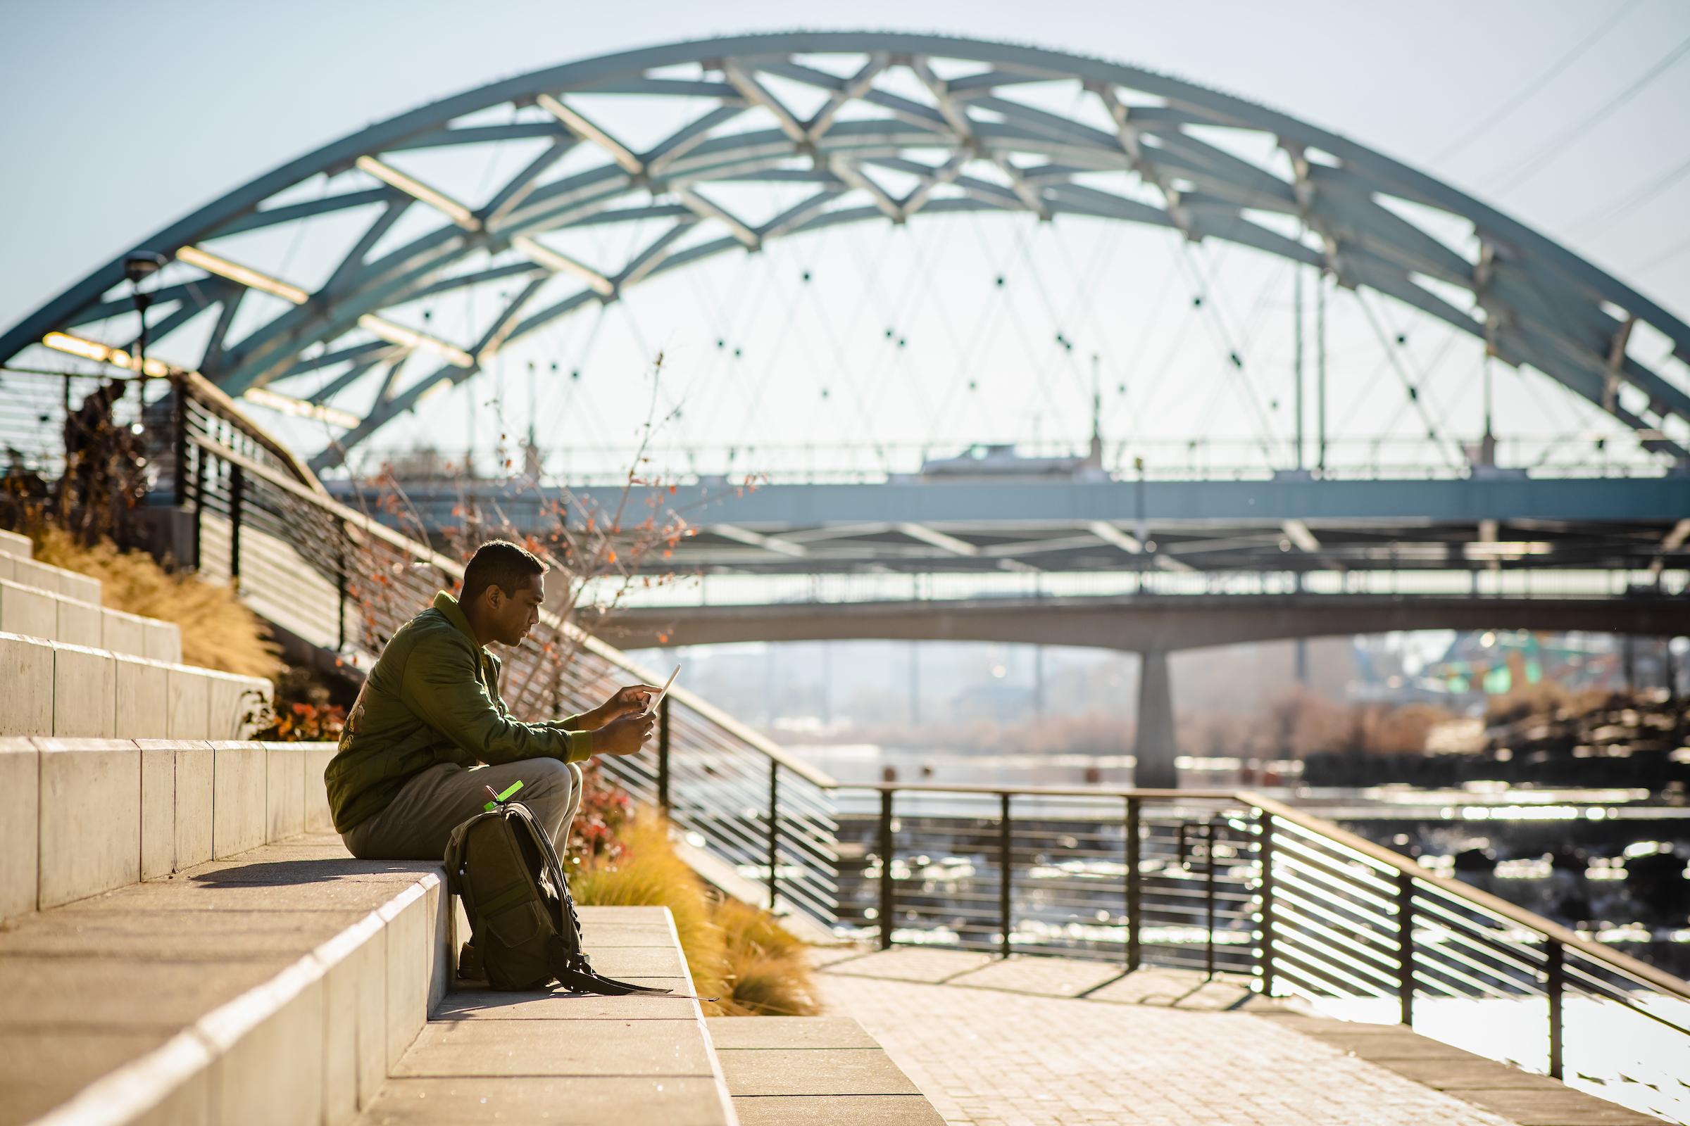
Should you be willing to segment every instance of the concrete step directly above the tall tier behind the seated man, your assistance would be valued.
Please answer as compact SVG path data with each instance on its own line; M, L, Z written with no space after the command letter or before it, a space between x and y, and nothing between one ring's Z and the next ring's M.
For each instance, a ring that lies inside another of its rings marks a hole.
M238 739L274 690L262 677L0 633L0 736Z

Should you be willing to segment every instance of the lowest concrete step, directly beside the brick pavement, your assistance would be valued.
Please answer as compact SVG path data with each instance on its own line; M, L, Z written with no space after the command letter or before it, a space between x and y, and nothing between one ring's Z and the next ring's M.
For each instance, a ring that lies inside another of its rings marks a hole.
M744 1126L943 1126L926 1096L848 1016L711 1016Z

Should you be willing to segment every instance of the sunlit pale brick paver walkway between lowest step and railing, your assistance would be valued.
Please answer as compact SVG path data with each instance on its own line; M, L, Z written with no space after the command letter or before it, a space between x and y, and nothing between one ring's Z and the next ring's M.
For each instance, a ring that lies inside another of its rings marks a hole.
M818 984L953 1126L1509 1123L1273 1018L826 971Z

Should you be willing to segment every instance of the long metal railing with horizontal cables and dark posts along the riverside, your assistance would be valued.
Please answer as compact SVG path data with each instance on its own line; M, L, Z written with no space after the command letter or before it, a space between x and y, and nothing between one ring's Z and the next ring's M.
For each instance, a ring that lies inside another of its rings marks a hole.
M181 417L198 564L272 620L367 662L461 579L326 498L226 403ZM561 717L652 679L542 614L504 696ZM1371 1001L1408 1025L1448 999L1523 1004L1555 1077L1570 1021L1622 1013L1690 1050L1690 984L1262 795L842 785L681 687L657 753L603 765L742 891L840 937L1246 974L1266 994Z

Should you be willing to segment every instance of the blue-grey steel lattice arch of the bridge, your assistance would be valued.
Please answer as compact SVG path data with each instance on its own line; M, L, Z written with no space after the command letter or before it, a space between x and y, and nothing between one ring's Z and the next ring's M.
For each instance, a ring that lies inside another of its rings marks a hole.
M1078 84L1088 111L1053 113L1017 98L1038 84ZM818 108L799 113L794 89ZM673 128L635 150L583 111L583 100L605 96L662 105ZM488 111L500 108L509 116L490 123ZM1217 143L1215 130L1264 138L1271 157L1246 159ZM395 155L505 140L542 147L485 199L451 198L394 164ZM581 154L592 155L585 167ZM914 177L914 187L894 196L882 186L887 172ZM1134 191L1097 182L1122 172ZM711 186L735 182L808 191L754 223L710 198ZM308 184L316 198L301 198ZM1678 366L1690 363L1690 328L1619 279L1448 184L1306 122L1153 71L1016 44L782 32L570 62L331 142L132 253L171 260L150 341L169 353L172 334L188 339L191 322L210 324L193 366L230 395L345 427L313 459L328 468L429 392L475 376L500 348L646 279L826 226L965 211L1146 223L1320 268L1338 285L1389 295L1482 339L1489 355L1531 366L1619 419L1649 452L1690 463L1690 382ZM402 225L407 213L412 221ZM330 214L357 216L357 228L314 287L228 248L237 236ZM419 214L429 219L421 230ZM542 241L651 219L668 226L613 270ZM419 233L392 238L411 230ZM127 257L0 336L0 363L46 346L132 365ZM443 339L402 309L500 280L517 292L475 339ZM1655 353L1665 338L1665 355L1639 358L1643 338ZM330 382L308 398L287 395L306 373ZM333 405L365 380L380 382L367 409Z

